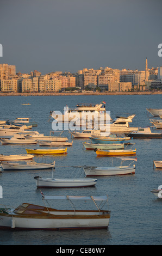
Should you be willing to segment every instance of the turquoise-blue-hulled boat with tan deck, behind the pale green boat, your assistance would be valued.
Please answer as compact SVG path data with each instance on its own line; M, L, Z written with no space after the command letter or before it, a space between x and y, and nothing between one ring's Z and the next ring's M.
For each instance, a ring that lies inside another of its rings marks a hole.
M131 138L130 137L115 137L115 136L95 136L92 135L92 137L90 138L91 141L93 143L96 144L106 144L106 143L130 143L131 142Z

